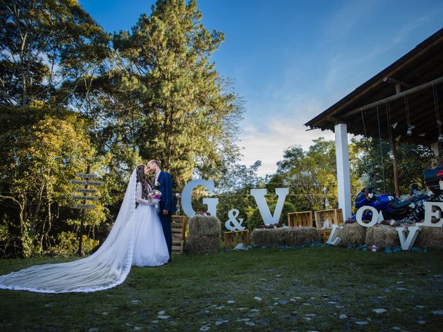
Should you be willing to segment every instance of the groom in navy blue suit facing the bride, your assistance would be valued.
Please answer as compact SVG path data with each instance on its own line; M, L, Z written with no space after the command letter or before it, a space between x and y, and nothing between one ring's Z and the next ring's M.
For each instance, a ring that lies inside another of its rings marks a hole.
M169 250L169 261L171 261L172 252L172 229L171 221L172 214L177 211L174 198L172 196L172 178L168 172L163 172L160 169L160 164L157 160L151 160L147 163L147 168L152 174L155 174L153 187L156 190L160 190L160 221L163 227L163 233L165 234L166 244Z

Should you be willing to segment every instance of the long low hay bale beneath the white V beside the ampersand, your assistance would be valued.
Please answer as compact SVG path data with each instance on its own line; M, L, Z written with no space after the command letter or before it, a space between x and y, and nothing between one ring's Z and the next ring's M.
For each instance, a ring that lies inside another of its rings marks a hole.
M257 246L300 246L320 242L320 232L313 227L257 229L251 233L251 241Z

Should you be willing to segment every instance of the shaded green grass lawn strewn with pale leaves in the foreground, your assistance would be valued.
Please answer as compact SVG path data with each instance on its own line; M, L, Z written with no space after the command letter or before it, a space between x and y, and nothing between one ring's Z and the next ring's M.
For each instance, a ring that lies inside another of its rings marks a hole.
M173 258L133 268L109 291L0 291L1 331L442 331L443 252L321 246ZM0 273L47 261L0 261Z

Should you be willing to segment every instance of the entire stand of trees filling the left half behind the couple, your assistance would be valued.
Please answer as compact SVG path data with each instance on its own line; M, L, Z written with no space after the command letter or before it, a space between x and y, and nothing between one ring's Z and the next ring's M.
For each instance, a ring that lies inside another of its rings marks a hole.
M223 33L201 19L197 1L159 0L109 35L75 0L0 1L0 255L73 252L69 180L87 165L105 182L85 216L91 246L135 165L161 160L176 190L228 172L242 100L210 63Z

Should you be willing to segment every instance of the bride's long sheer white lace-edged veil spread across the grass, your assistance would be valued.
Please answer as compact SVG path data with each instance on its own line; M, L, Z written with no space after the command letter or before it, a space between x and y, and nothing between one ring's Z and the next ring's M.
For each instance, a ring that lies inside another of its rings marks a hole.
M132 265L132 214L136 169L132 172L117 219L102 246L91 256L60 264L31 266L0 276L0 288L38 293L95 292L125 281Z

